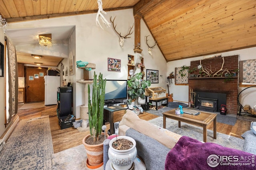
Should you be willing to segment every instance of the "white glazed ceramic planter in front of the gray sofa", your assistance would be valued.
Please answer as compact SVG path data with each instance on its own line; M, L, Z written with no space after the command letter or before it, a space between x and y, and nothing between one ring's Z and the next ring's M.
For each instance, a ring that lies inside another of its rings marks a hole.
M118 136L117 138L132 141L133 147L127 150L116 150L112 147L112 143L116 141L116 138L113 138L109 143L108 157L115 170L129 170L137 156L136 141L127 136Z

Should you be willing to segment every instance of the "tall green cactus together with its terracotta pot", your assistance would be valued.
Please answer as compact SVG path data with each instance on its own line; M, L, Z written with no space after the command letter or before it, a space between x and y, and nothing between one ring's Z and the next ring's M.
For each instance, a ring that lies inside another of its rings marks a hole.
M88 114L90 124L90 134L84 137L82 143L86 149L87 166L100 167L103 164L103 141L105 139L102 133L103 111L106 79L102 79L100 73L98 81L94 72L92 85L92 100L90 98L90 84L88 84Z

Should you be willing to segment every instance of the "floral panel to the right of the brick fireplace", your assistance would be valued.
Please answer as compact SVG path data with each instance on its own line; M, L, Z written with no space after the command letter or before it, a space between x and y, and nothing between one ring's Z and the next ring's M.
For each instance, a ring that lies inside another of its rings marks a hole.
M256 83L256 60L243 61L243 82Z

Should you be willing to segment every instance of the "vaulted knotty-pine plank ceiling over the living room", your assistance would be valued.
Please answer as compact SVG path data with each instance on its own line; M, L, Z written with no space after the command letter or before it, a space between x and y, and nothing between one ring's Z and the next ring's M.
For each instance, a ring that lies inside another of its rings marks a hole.
M134 8L134 14L142 16L166 61L256 47L256 0L102 0L102 3L106 12ZM9 23L98 10L97 0L0 0L0 4L0 14Z

